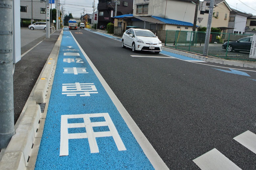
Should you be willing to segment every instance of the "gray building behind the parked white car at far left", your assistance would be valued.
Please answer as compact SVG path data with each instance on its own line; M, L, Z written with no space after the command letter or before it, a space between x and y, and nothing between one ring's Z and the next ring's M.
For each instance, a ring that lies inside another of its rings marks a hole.
M30 19L32 22L46 19L46 0L22 0L20 1L20 18Z

